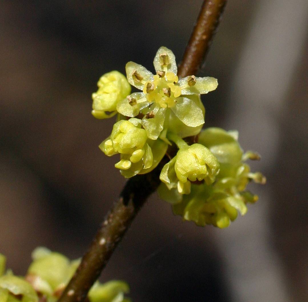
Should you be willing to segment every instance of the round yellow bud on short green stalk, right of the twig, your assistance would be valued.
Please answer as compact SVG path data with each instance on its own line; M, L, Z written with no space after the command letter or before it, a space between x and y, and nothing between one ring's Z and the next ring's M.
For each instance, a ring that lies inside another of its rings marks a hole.
M208 148L200 144L180 148L160 173L160 180L168 189L177 188L180 194L189 194L191 181L213 183L219 172L219 163Z

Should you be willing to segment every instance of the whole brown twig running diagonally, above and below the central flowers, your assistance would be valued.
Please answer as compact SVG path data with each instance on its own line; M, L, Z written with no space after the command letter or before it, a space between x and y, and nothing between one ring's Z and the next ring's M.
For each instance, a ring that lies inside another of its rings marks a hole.
M196 26L185 50L178 75L195 74L209 48L209 42L218 24L226 1L204 1ZM168 161L165 157L151 173L136 175L128 180L118 201L105 217L88 251L83 256L71 281L58 302L83 301L95 280L107 264L116 245L128 229L147 198L160 184L161 168Z

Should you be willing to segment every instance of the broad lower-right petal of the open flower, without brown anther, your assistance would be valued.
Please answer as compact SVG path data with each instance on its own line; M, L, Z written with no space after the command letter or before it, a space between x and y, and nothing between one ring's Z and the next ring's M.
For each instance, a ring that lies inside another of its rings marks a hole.
M197 127L204 124L204 116L200 104L187 97L177 97L177 103L171 107L173 113L185 125Z

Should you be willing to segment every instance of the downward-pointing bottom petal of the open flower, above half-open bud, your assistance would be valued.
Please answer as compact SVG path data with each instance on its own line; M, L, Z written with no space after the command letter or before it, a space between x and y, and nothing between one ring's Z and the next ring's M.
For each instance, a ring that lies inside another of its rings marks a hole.
M159 137L160 132L164 129L166 108L154 105L150 107L149 113L153 113L155 116L147 118L147 115L145 115L142 118L142 126L146 130L148 138L156 140L157 137Z

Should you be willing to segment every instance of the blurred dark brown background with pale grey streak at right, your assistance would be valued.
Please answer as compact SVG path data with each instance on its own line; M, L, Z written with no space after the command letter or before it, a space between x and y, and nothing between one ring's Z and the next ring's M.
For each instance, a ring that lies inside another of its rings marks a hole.
M202 1L0 1L0 252L24 274L39 245L77 258L125 180L98 148L99 77L160 46L184 53ZM152 196L101 280L133 301L308 301L308 2L227 3L201 76L205 126L257 150L255 205L229 228L183 222Z

